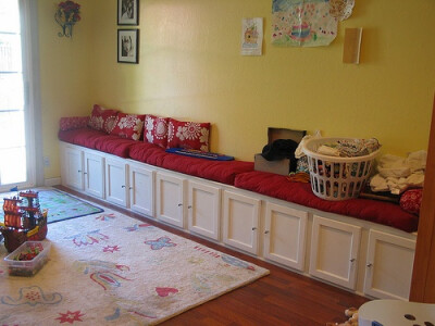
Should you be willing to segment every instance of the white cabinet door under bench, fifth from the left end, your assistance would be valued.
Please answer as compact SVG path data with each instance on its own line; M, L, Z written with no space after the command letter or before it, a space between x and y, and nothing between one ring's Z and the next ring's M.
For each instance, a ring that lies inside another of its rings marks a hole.
M157 174L157 218L184 228L184 179Z

